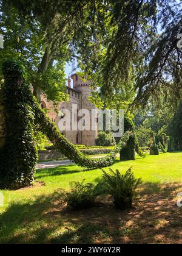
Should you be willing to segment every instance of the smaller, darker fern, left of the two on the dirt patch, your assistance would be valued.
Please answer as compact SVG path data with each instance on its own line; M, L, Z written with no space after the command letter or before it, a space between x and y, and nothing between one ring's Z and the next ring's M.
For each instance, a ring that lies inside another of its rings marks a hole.
M70 191L65 194L64 201L73 210L90 208L95 204L95 192L92 183L70 182Z

